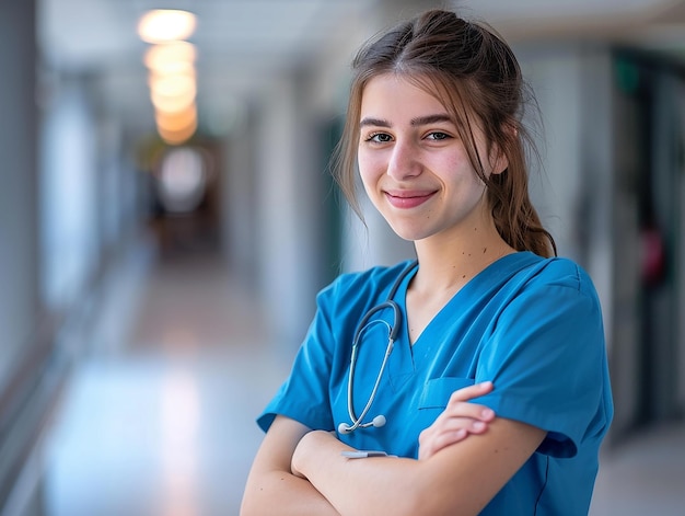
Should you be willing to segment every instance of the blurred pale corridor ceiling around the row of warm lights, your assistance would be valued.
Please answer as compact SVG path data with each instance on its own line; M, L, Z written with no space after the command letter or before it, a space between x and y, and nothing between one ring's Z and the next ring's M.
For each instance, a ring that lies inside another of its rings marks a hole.
M139 18L150 9L185 9L198 19L201 113L227 111L274 73L316 59L350 27L395 5L457 5L507 37L578 35L629 39L681 54L685 8L673 0L37 0L38 44L51 70L89 73L127 124L152 124L147 44ZM376 15L378 18L378 15ZM370 34L369 34L370 35ZM351 37L351 36L348 36Z

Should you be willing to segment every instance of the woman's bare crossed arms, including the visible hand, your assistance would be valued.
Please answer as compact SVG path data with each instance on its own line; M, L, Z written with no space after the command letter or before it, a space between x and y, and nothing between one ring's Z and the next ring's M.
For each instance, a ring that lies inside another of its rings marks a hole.
M478 514L542 443L545 432L467 403L456 391L419 437L419 460L348 459L333 434L277 417L247 479L241 514ZM467 435L473 434L466 438Z

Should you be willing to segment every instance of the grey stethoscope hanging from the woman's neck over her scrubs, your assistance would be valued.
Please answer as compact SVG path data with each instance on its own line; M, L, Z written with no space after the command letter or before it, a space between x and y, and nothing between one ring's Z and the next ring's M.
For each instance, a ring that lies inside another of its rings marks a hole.
M381 385L381 378L383 377L383 371L385 371L385 366L387 365L387 359L390 358L391 353L393 352L393 347L395 345L395 340L397 339L397 334L399 333L399 329L402 328L402 311L399 310L399 306L393 300L399 285L407 277L407 275L414 270L418 262L415 260L409 264L407 268L405 268L399 277L395 280L393 288L387 295L387 299L380 305L371 308L359 324L357 325L357 330L355 331L355 339L352 341L352 354L350 357L350 369L347 381L347 412L349 413L350 420L352 424L349 423L340 423L338 425L338 433L340 434L351 434L357 428L368 428L369 426L373 426L374 428L380 428L385 425L385 416L383 414L376 415L370 423L362 423L367 413L371 409L373 400L375 399L375 394L379 390L379 386ZM383 319L375 319L371 321L371 318L378 312L391 309L393 311L393 323L388 323ZM381 363L381 367L379 369L379 374L375 377L375 382L373 383L373 389L371 389L371 394L369 394L369 401L364 405L364 409L357 416L353 406L353 390L355 390L355 369L357 367L357 355L359 354L359 343L361 341L362 334L371 328L373 324L384 324L387 328L387 346L385 347L385 356L383 357L383 362Z

